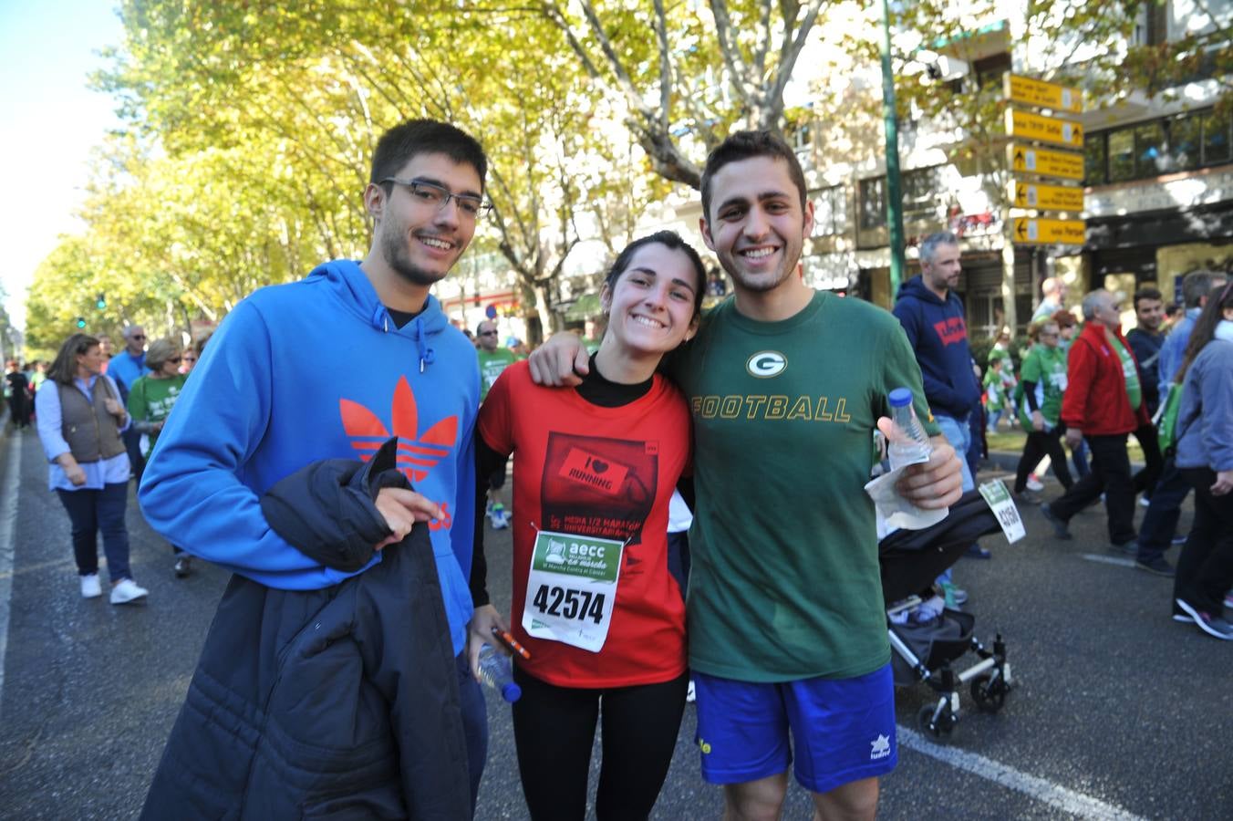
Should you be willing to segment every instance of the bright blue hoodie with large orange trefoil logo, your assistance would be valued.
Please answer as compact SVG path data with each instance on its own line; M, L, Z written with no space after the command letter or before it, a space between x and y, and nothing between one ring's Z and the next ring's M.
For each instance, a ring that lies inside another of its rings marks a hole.
M326 263L219 325L150 454L142 512L173 544L268 587L330 587L353 573L279 537L260 497L311 462L367 461L397 435L398 467L445 509L429 528L457 653L472 614L478 407L475 348L434 297L397 328L358 263Z

